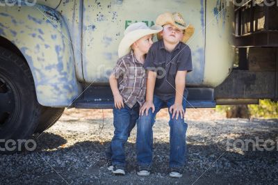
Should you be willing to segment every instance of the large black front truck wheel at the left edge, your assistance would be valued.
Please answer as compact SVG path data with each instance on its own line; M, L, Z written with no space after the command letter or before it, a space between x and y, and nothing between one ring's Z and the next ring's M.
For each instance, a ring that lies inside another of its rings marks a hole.
M38 125L40 111L42 106L37 101L28 65L0 47L0 154L18 152L18 147L16 151L7 151L5 143L29 138Z

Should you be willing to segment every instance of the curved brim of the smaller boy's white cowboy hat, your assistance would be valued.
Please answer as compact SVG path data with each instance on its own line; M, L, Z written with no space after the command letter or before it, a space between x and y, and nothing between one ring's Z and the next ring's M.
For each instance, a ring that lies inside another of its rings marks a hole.
M122 38L119 49L118 49L118 56L121 58L122 56L125 56L126 54L129 54L129 51L131 50L131 45L139 40L140 38L146 36L155 34L162 31L161 26L152 26L150 29L138 29L136 31L131 31L130 33L124 35L124 38Z

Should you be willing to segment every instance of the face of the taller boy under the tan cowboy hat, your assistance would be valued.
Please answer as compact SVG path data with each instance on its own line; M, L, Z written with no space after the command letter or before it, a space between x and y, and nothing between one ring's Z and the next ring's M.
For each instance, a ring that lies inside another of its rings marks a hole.
M171 44L176 44L183 38L183 30L178 29L176 26L173 26L172 24L165 24L163 26L163 31L161 34L163 40Z

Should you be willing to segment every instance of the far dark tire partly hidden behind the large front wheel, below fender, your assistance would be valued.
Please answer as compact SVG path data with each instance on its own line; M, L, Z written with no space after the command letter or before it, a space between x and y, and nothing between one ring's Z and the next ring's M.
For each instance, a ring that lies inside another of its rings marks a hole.
M49 129L56 123L62 116L65 108L53 108L44 106L42 114L38 120L38 127L35 129L35 133L42 133L46 129Z

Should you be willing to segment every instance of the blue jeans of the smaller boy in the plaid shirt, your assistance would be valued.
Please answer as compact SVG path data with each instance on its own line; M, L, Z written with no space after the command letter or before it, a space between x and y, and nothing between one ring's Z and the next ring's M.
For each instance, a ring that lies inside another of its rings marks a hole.
M131 130L139 117L140 105L136 103L132 108L124 104L124 108L113 108L114 136L111 145L106 151L106 158L112 160L116 166L125 166L126 157L124 154L124 144L130 136Z

